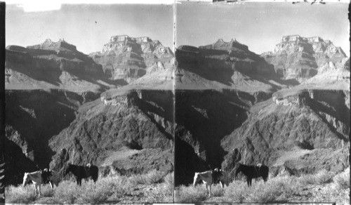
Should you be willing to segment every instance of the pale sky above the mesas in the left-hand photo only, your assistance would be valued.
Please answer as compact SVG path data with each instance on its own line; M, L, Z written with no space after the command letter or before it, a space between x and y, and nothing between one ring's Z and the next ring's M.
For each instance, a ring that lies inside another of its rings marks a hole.
M173 48L173 5L62 5L57 11L24 12L6 6L6 46L65 39L83 53L101 51L115 35L150 37Z

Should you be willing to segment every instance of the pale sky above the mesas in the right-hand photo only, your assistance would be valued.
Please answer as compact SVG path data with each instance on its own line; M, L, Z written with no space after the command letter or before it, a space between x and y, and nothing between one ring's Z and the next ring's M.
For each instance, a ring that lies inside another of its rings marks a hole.
M350 56L348 4L177 4L176 46L236 39L255 53L274 51L283 36L322 37Z

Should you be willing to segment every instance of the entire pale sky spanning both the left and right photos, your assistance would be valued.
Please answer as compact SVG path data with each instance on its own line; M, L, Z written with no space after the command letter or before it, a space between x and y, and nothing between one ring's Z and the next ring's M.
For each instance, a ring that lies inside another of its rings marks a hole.
M345 3L186 3L176 4L176 46L236 39L260 54L273 51L283 36L299 34L329 39L350 56ZM173 5L63 4L60 10L39 12L6 6L6 46L65 39L88 54L101 51L110 37L121 34L147 36L173 48Z

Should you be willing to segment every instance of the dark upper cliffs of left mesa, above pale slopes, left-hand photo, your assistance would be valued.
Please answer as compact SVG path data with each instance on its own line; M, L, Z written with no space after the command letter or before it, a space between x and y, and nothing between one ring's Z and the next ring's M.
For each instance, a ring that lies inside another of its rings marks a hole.
M102 67L87 55L77 51L76 46L60 40L50 39L35 46L8 46L6 48L6 67L38 71L67 71L72 73L102 74ZM29 64L28 64L29 63ZM22 66L21 66L22 65Z

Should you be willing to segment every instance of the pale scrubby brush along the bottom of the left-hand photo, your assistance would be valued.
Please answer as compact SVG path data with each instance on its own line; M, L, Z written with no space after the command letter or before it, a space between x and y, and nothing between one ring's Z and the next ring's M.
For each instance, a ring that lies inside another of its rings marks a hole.
M150 171L144 175L107 176L83 183L81 187L73 180L65 180L51 190L41 187L41 197L34 194L34 185L6 187L6 203L131 203L173 202L173 173Z

